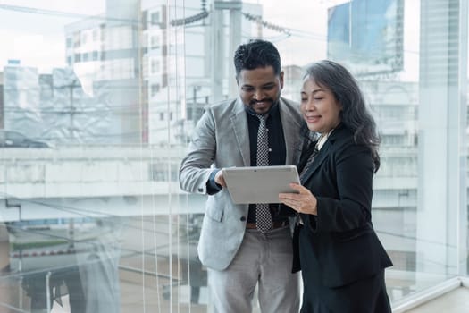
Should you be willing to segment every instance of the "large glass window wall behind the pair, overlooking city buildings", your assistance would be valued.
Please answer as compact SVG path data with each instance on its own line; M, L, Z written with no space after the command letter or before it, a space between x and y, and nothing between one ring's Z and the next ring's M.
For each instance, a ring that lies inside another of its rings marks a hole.
M467 16L466 0L3 1L0 311L211 311L206 198L178 170L205 107L237 97L249 38L279 48L283 97L315 60L356 75L381 131L373 224L396 311L459 283Z

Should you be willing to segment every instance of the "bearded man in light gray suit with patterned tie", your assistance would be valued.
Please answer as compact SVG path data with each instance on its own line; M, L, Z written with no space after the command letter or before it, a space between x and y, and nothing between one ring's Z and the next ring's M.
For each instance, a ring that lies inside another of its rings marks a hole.
M268 137L268 160L262 165L295 164L302 118L297 104L281 98L283 72L272 43L251 40L239 46L234 65L239 97L210 106L198 121L180 165L180 188L211 195L197 250L208 269L215 312L251 312L256 285L263 313L297 312L289 218L279 205L268 205L268 227L260 229L256 211L261 209L231 201L222 168L260 165L258 132Z

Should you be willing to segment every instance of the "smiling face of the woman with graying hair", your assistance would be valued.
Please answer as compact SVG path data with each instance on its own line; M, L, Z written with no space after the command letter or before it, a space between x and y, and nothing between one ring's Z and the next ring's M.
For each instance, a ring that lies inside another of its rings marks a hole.
M306 78L301 89L301 113L310 131L327 133L340 123L342 105L330 89Z

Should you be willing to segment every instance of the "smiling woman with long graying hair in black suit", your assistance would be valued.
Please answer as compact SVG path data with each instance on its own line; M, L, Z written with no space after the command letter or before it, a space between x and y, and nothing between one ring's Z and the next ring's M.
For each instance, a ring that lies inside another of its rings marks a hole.
M309 140L298 164L299 193L281 193L297 211L293 271L302 271L301 313L391 312L384 268L392 266L372 224L379 136L356 80L320 61L306 68L301 113ZM309 162L308 162L309 161Z

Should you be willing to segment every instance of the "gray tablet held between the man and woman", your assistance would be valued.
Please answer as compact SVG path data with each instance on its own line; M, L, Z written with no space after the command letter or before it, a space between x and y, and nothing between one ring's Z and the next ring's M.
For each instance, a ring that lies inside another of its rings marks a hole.
M289 183L299 183L295 165L227 167L222 171L236 204L280 203L279 193L297 192Z

